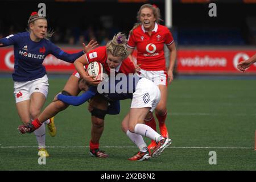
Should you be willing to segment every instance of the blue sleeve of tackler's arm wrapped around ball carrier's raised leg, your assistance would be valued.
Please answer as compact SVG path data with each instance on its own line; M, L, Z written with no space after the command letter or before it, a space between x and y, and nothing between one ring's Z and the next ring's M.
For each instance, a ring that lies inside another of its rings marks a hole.
M66 104L79 106L96 95L97 87L96 88L95 87L96 86L90 86L89 90L81 94L81 96L65 96L63 94L59 94L57 98L58 100L63 101Z

